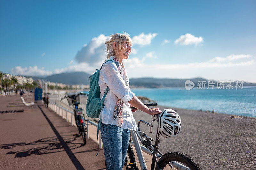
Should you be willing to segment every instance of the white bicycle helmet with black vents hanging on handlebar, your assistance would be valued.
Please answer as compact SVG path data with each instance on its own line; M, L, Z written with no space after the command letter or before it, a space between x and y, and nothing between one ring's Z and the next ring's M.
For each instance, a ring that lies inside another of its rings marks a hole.
M164 109L158 121L158 133L162 137L176 137L181 130L181 120L178 113L172 109Z

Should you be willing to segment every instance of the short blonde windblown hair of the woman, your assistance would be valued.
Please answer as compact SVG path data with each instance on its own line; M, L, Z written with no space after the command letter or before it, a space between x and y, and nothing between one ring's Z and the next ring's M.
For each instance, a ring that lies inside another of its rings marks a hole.
M111 57L112 55L115 55L116 53L117 53L116 55L119 54L118 50L115 51L115 49L113 48L114 42L117 43L118 49L121 50L121 45L122 45L122 42L124 41L127 41L130 45L132 45L132 39L130 38L128 33L124 32L124 33L116 33L116 34L110 35L110 39L107 42L105 42L105 44L107 44L108 59L109 57Z

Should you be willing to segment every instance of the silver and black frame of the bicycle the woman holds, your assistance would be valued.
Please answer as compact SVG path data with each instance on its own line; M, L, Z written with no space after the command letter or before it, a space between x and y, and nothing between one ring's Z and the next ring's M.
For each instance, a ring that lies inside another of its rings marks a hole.
M143 123L145 123L144 121L142 121ZM145 123L147 124L147 122ZM149 124L149 123L148 123ZM138 124L139 125L139 124ZM132 137L132 141L133 141L133 145L135 147L135 150L136 150L136 153L137 153L137 157L138 157L138 160L139 160L139 163L140 163L140 168L141 170L147 170L147 165L146 165L146 162L145 162L145 159L144 159L144 156L143 156L143 153L142 153L142 150L141 150L141 145L140 143L142 143L142 141L144 140L144 138L142 138L139 134L139 129L138 129L138 126L136 125L136 131L134 130L130 130L130 133L131 133L131 137ZM143 133L143 132L142 132ZM140 141L140 142L139 142ZM157 158L160 158L161 156L163 156L164 154L161 153L159 150L158 150L158 143L159 143L159 136L158 136L158 127L157 127L157 131L156 131L156 141L155 141L155 145L148 145L147 147L145 146L142 146L143 147L143 151L148 153L148 154L151 154L153 156L152 158L152 163L151 163L151 170L154 170L155 169L155 165L158 166L159 170L161 170L161 168L159 167L159 164L158 164L158 160ZM187 170L187 168L183 165L181 165L180 163L177 163L177 162L173 162L173 165L174 166L179 166L181 167L181 169L183 170ZM172 165L169 163L169 166L172 167ZM173 168L173 167L172 167Z

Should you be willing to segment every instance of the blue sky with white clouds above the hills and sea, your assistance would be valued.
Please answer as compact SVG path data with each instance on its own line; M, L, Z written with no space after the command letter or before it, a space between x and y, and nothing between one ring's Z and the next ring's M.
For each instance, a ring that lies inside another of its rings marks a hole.
M256 82L255 8L255 1L1 0L0 71L92 73L106 58L104 41L125 31L133 40L124 62L130 78Z

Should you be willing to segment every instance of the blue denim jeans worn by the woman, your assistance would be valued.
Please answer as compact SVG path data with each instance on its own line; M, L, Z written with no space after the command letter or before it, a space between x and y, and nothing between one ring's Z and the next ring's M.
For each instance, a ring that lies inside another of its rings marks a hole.
M102 123L100 133L107 170L121 170L128 150L130 130Z

